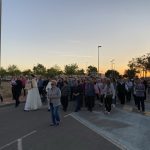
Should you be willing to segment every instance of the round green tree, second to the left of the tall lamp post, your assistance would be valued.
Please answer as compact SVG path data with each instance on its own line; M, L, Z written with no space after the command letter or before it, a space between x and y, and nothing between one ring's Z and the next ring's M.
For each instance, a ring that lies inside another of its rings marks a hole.
M64 73L66 75L75 75L78 70L77 64L66 65L64 68Z

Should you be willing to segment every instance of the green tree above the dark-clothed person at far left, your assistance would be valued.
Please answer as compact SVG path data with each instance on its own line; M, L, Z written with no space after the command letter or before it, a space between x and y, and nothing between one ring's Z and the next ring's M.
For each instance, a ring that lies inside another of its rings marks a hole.
M7 72L11 76L21 75L21 71L18 69L16 65L9 65Z

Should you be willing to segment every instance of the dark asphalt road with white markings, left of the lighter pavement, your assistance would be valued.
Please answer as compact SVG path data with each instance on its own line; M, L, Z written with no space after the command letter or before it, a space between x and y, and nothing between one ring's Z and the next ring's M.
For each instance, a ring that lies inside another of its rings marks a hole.
M74 113L61 112L60 126L51 127L46 108L24 112L23 106L0 108L0 150L120 149L75 119Z

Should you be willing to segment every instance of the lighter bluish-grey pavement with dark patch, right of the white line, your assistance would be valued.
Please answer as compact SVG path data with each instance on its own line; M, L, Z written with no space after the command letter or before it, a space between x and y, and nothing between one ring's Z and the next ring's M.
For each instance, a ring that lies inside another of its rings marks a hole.
M148 150L150 117L114 108L110 115L103 111L80 111L71 116L122 150Z

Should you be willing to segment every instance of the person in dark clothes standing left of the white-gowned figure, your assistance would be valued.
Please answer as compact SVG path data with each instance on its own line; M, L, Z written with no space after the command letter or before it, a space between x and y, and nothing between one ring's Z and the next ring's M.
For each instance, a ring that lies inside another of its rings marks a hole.
M17 80L15 82L16 82L14 86L14 98L16 101L15 107L18 107L18 105L20 104L19 97L21 95L21 90L22 90L22 82L20 77L17 77Z

